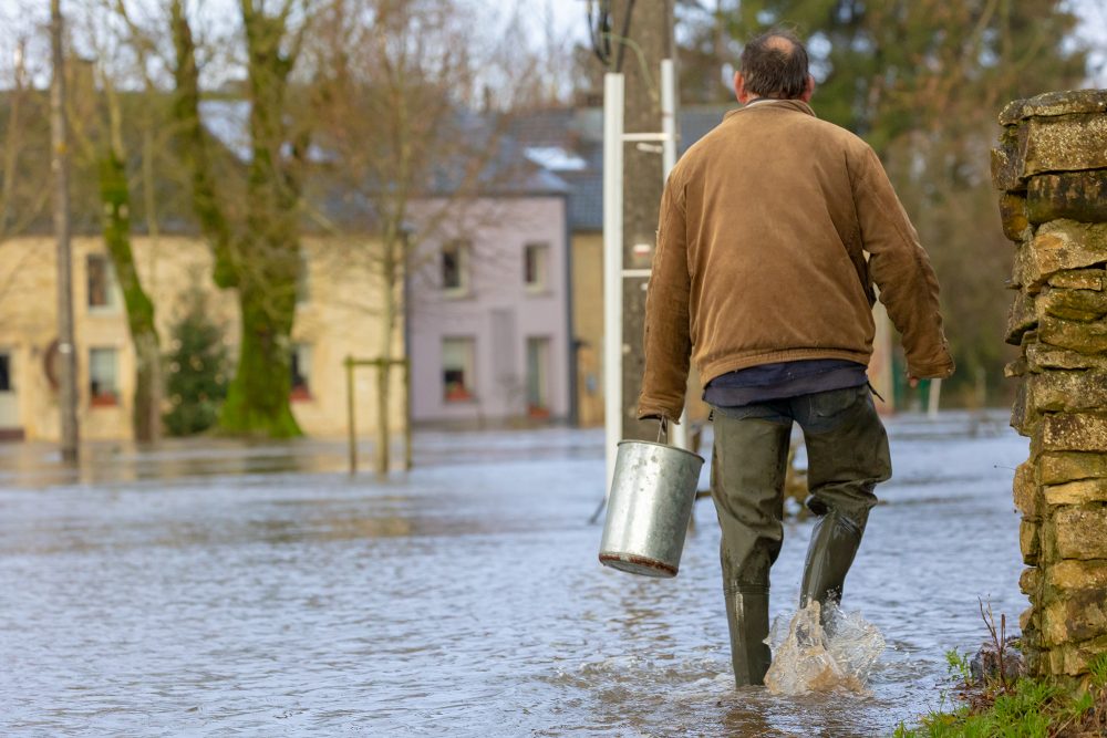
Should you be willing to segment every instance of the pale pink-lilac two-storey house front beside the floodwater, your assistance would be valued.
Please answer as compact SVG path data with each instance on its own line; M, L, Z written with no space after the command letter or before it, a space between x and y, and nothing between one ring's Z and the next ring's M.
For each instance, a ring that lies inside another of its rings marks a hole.
M412 419L576 419L567 191L548 171L506 195L413 212Z

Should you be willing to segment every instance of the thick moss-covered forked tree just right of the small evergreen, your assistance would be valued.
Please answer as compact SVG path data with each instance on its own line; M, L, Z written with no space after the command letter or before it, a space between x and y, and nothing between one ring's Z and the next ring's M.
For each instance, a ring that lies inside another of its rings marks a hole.
M289 124L291 74L311 0L240 0L249 160L242 209L228 206L215 152L200 121L197 45L182 0L170 3L174 117L192 176L193 204L215 253L215 281L237 290L242 339L219 417L226 433L300 434L289 406L290 343L300 273L299 205L308 132ZM302 102L302 101L301 101ZM224 167L227 169L227 167Z

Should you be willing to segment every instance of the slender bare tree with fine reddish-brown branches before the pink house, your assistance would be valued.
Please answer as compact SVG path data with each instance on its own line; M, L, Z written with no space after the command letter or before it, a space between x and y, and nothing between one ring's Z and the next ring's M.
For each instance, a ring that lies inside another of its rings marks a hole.
M333 160L325 177L341 205L311 216L331 254L379 280L364 305L380 326L376 470L389 470L391 367L403 356L405 279L464 212L520 166L504 156L508 108L537 100L520 81L536 54L513 18L506 43L474 49L473 18L457 0L332 0L310 45L320 105L318 141ZM510 46L510 53L508 52ZM526 95L520 95L526 91ZM539 91L540 92L540 91ZM477 218L496 218L487 208ZM469 224L472 227L472 222ZM457 238L457 233L452 233ZM410 418L408 418L410 424Z

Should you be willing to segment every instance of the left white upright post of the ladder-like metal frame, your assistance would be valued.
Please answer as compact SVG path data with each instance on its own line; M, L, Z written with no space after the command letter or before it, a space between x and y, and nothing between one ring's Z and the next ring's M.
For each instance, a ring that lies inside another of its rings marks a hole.
M622 436L623 76L603 75L603 425L608 485Z

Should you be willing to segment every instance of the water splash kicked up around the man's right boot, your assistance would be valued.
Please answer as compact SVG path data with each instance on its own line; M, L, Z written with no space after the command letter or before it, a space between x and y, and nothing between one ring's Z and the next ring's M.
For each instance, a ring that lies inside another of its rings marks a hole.
M829 606L826 631L819 622L818 602L790 617L778 615L773 622L767 640L773 664L765 675L765 686L770 693L867 694L865 683L884 651L884 638L860 613Z

